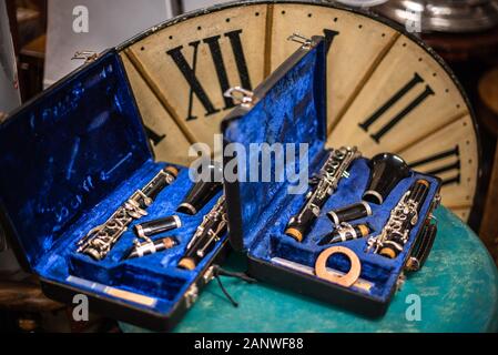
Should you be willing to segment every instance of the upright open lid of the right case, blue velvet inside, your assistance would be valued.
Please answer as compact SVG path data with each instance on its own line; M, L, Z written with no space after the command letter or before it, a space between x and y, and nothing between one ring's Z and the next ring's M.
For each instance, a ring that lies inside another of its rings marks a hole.
M313 163L324 151L326 141L326 82L325 40L314 37L255 89L251 106L237 106L222 122L225 155L234 151L237 156L238 180L225 180L230 241L235 250L247 251L277 213L268 206L282 204L276 200L287 195L285 190L293 184L288 179L291 174L302 173L307 187L307 169L304 171L302 168ZM250 154L254 144L264 143L274 148L271 180L250 182L251 166L257 166L260 181L267 173L261 163L262 152ZM282 144L282 150L272 145L275 143ZM308 146L307 161L299 155L299 144ZM289 146L294 146L294 151ZM244 152L241 153L241 149ZM285 172L275 165L282 159ZM226 178L232 158L225 156L224 160Z

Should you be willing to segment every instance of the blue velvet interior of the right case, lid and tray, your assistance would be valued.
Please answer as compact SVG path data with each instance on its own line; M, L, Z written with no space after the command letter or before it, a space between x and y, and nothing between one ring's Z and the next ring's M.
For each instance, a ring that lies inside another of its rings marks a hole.
M311 175L319 171L327 155L327 151L324 150L326 124L324 67L326 64L323 45L321 42L309 52L289 59L266 83L256 89L257 103L250 111L240 110L226 120L224 124L226 145L235 142L242 143L248 151L251 144L254 143L307 143L309 144ZM287 154L287 149L284 149L282 154ZM238 160L238 164L248 170L251 164L257 166L258 159L260 156L251 155L245 162ZM298 162L298 155L294 154L293 160ZM275 161L272 160L272 176L275 176ZM238 220L242 222L243 245L250 257L274 265L273 258L284 258L314 268L318 255L329 247L317 245L318 241L332 232L334 226L326 213L362 201L369 179L367 163L366 159L358 159L352 164L350 178L341 181L337 191L327 201L313 230L303 243L297 243L286 236L284 231L291 217L297 214L303 206L305 194L288 194L287 187L291 182L287 180L277 182L272 178L273 180L267 183L240 182L241 215ZM294 168L299 164L291 165ZM244 169L238 169L244 171ZM420 178L428 180L431 184L428 197L420 211L420 216L424 217L419 219L418 225L410 233L409 243L397 258L388 260L366 253L367 239L335 244L346 246L359 256L360 278L372 283L369 291L353 286L354 292L363 293L366 297L372 297L380 303L387 303L390 300L414 240L439 190L439 181L433 176L413 172L408 179L398 184L383 205L372 204L372 216L353 222L354 224L366 222L374 230L373 234L379 233L387 222L392 209L409 186ZM240 243L235 244L240 245ZM327 266L347 272L350 265L346 257L336 255L329 258Z

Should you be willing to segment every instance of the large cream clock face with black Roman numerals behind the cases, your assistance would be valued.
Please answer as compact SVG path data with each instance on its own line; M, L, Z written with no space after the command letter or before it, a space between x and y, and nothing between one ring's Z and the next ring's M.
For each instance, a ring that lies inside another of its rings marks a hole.
M176 18L120 47L156 158L186 163L213 145L234 108L223 93L252 90L299 44L328 49L329 146L400 154L444 181L443 203L466 220L479 171L474 119L459 85L429 50L373 17L328 4L258 1Z

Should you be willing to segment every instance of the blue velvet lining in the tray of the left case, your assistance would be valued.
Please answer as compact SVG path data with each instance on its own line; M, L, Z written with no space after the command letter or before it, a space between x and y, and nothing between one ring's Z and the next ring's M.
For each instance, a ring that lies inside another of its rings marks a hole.
M192 282L199 275L199 271L206 266L217 251L214 250L203 262L197 265L196 271L190 272L176 267L177 262L184 254L186 245L194 234L202 219L214 206L216 199L213 199L195 216L177 214L176 207L183 201L186 192L193 183L189 179L189 170L181 168L181 173L176 181L167 186L155 200L154 204L148 209L149 215L134 222L129 231L124 233L111 253L101 262L95 262L87 255L74 253L74 243L88 231L99 225L109 217L110 211L115 210L122 204L123 197L128 197L136 186L146 184L161 168L165 164L157 164L148 161L133 176L119 186L102 203L98 204L91 215L83 216L74 223L60 239L61 242L55 245L50 253L47 253L38 264L37 271L45 278L65 283L69 275L98 282L108 286L126 290L141 295L157 298L154 311L166 314L173 305L180 301ZM182 227L161 236L175 236L180 245L157 254L121 261L128 254L136 237L133 233L133 226L150 220L155 220L165 215L177 214L182 220ZM226 237L226 236L225 236ZM141 306L134 304L134 306Z

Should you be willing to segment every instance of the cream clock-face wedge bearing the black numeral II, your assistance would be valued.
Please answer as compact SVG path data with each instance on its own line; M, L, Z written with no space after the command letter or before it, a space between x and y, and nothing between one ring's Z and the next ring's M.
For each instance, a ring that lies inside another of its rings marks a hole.
M334 126L329 144L356 142L370 154L400 152L467 113L451 78L402 36Z

